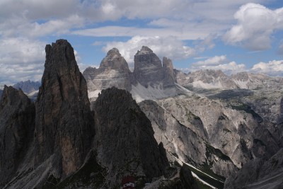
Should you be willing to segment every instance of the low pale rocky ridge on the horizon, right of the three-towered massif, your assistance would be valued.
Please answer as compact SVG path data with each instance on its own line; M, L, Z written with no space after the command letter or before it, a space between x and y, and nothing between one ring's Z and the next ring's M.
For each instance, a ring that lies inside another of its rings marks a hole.
M282 77L271 77L263 74L239 72L227 76L221 70L204 69L188 74L175 70L178 84L187 88L221 88L221 89L278 89L282 88Z

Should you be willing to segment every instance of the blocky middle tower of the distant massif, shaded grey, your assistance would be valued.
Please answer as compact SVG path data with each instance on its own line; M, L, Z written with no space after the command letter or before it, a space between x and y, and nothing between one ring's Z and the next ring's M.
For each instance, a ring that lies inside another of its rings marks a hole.
M141 50L134 55L134 77L145 87L163 80L161 60L149 47L141 47Z

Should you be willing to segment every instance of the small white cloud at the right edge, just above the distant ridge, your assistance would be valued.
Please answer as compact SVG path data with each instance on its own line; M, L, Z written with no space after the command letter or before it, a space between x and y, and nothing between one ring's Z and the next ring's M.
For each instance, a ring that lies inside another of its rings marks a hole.
M283 75L283 60L273 60L270 62L260 62L253 65L251 71L267 75Z

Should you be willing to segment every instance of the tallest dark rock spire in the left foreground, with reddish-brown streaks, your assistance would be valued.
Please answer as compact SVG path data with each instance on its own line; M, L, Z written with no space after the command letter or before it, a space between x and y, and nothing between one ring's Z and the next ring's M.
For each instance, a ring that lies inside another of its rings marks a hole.
M76 171L91 146L93 119L86 80L67 40L45 47L45 71L37 96L35 166L55 154L62 175Z

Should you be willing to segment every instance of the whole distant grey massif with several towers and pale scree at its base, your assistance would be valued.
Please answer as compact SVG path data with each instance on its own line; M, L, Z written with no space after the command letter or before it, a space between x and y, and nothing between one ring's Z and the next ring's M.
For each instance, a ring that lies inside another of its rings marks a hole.
M134 71L129 70L119 50L110 50L98 69L88 67L83 71L88 84L88 97L95 101L101 90L115 86L132 93L136 101L167 98L187 90L175 82L171 59L163 57L163 63L149 47L141 47L134 55Z

